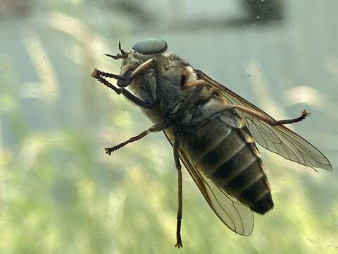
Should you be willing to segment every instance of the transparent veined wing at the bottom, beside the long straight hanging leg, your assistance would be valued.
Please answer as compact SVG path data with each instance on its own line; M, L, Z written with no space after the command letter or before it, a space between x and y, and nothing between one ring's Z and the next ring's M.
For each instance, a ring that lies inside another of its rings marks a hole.
M167 131L164 131L164 134L173 146L173 137L171 137ZM206 202L208 202L220 220L237 234L249 236L253 231L253 212L250 208L234 200L230 195L215 186L210 179L204 176L201 171L189 161L182 150L180 150L180 159L204 195Z

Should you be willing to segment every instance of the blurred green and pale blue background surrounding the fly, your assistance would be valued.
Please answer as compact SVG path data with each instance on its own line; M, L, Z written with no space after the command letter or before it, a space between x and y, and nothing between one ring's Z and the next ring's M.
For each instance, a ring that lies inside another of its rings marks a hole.
M338 1L0 1L0 253L337 253ZM263 153L275 208L249 237L224 226L162 133L90 74L147 37L322 150L332 172Z

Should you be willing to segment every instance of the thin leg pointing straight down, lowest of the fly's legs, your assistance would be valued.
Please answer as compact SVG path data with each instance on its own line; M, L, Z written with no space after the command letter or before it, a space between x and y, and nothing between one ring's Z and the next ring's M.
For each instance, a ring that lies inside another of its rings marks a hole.
M178 184L178 207L177 207L177 224L176 224L176 244L175 247L183 248L182 238L181 238L181 219L182 219L182 171L181 164L178 155L180 149L180 141L177 136L175 136L174 143L174 160L175 167L177 169L177 184Z

